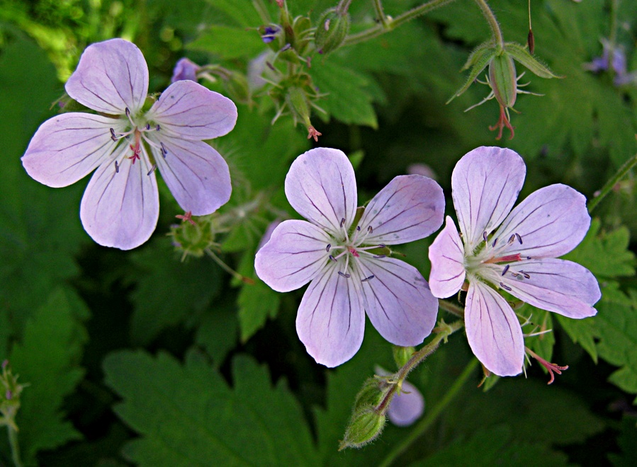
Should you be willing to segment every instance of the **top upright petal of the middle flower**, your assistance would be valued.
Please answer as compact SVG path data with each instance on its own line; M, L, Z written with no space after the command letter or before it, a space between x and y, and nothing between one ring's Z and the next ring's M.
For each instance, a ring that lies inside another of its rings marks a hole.
M354 168L342 151L310 149L290 166L286 196L296 212L325 231L337 234L351 226L356 214Z

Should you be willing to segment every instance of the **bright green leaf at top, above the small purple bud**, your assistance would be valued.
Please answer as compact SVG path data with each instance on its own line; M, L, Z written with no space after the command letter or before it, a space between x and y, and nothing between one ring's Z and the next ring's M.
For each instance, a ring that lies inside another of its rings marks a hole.
M215 25L210 26L186 48L217 54L222 59L254 57L265 50L257 30Z

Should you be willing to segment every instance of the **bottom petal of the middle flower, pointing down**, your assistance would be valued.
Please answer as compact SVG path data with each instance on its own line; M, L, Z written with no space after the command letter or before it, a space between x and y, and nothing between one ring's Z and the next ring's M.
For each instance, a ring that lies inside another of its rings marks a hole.
M351 359L363 342L365 312L355 286L352 277L339 275L338 264L330 262L301 300L296 332L308 354L326 367Z

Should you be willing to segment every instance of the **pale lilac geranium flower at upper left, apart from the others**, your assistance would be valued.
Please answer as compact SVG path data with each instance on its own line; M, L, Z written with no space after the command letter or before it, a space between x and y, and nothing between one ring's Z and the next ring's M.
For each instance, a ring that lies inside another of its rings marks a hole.
M159 217L156 168L193 215L210 214L230 199L227 163L202 141L235 126L230 99L178 81L147 110L144 56L122 39L87 47L65 88L98 113L50 118L35 132L22 163L31 177L54 188L97 168L80 207L84 229L97 243L128 250L147 241Z

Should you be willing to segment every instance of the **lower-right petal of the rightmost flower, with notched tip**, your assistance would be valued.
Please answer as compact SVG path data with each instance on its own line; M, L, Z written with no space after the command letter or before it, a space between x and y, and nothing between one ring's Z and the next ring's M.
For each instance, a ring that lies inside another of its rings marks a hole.
M512 263L500 277L510 294L543 310L568 318L587 318L602 296L592 272L567 260L543 258Z

